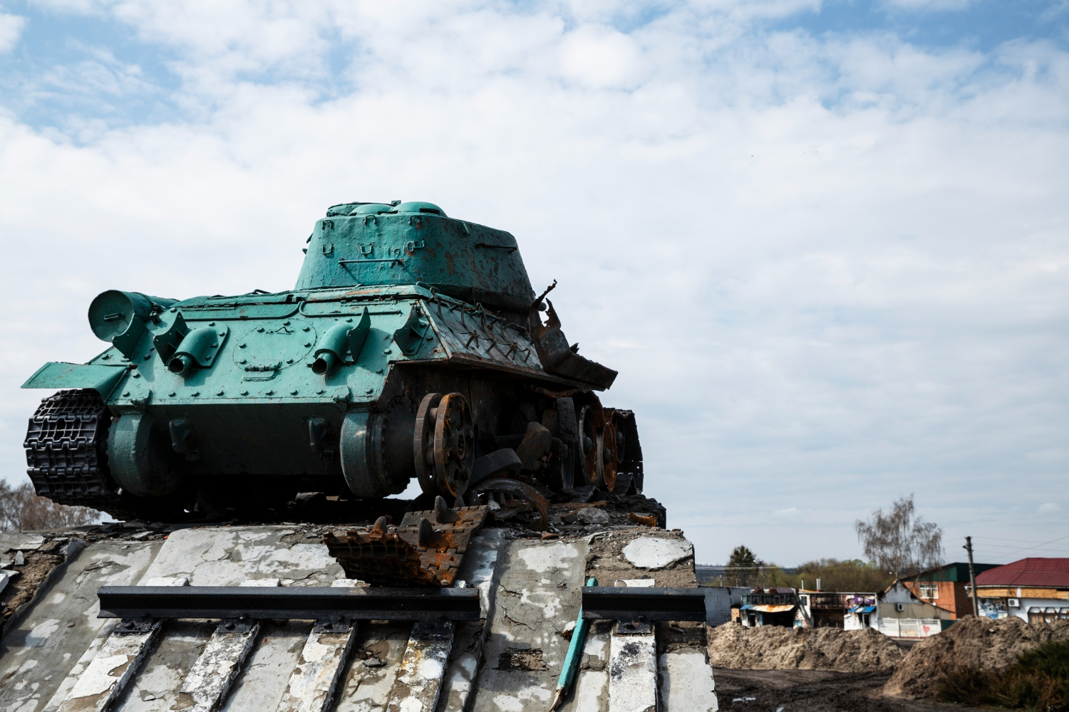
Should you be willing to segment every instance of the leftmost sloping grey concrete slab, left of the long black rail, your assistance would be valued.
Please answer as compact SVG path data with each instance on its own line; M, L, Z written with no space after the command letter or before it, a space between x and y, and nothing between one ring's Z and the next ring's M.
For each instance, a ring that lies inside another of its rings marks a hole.
M110 631L105 629L110 623L96 617L96 590L136 584L159 548L155 541L98 541L73 557L0 645L0 711L59 707L69 690L50 700L63 681L84 671Z

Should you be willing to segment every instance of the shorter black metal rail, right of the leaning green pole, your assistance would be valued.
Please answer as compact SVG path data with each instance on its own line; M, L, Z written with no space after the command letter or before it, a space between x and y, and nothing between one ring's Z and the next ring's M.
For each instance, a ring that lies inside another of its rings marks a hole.
M700 588L584 586L583 617L590 620L704 620Z

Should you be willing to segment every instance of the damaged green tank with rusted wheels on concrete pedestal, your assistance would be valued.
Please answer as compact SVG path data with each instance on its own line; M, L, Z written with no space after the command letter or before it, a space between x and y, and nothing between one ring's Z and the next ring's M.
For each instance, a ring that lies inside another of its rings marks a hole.
M641 491L634 414L595 394L616 371L569 345L512 235L431 203L345 203L305 253L291 291L96 297L107 350L22 386L60 389L25 443L37 493L177 521L413 478L450 503L502 478Z

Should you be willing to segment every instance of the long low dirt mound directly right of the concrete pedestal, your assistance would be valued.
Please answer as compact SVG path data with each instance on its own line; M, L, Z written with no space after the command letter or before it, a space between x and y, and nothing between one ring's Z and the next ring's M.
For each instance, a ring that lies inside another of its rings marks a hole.
M709 630L713 667L753 670L838 670L887 673L902 649L871 628L743 628L728 623Z

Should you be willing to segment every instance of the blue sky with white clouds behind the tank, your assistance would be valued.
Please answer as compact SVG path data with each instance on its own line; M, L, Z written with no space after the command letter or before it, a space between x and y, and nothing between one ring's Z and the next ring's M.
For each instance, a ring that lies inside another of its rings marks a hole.
M559 281L699 561L1069 556L1069 1L0 0L0 475L96 294L389 200Z

